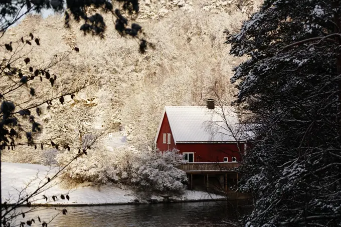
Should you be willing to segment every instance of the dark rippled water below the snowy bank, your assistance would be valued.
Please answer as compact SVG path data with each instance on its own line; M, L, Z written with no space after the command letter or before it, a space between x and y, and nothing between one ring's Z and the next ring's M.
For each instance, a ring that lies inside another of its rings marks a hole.
M31 217L37 220L37 214L42 218L42 221L44 219L48 222L63 207L39 209L32 214L27 214L24 219L17 219L17 222L26 221ZM234 210L226 202L83 206L67 207L67 211L67 215L58 215L48 226L220 227L229 226L227 222L232 221L236 216ZM33 226L41 226L41 224Z

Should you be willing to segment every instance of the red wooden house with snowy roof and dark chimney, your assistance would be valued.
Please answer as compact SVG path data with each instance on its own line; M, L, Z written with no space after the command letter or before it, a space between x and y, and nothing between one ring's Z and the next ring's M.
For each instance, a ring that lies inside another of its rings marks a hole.
M242 162L247 136L233 107L165 106L157 134L160 151L180 150L188 162Z

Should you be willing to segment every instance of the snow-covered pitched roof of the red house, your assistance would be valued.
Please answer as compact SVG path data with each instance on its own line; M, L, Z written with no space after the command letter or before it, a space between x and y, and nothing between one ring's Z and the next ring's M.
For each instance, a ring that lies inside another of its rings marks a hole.
M164 113L167 115L175 143L181 142L233 142L245 141L242 125L231 106L165 106L155 143L160 131ZM242 138L244 137L244 138Z

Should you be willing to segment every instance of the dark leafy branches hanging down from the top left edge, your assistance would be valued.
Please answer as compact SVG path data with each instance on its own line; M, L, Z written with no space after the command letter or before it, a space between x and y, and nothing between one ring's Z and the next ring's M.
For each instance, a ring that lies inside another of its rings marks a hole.
M128 14L136 14L139 11L138 0L116 0L122 4L122 10ZM80 30L84 34L91 34L99 37L104 37L106 30L106 23L99 13L89 15L87 9L93 7L101 10L105 14L114 15L117 20L115 22L115 29L122 35L128 35L137 38L140 42L140 49L143 48L141 53L145 52L148 44L146 41L137 37L138 33L141 32L141 27L137 24L132 24L131 28L128 28L128 20L123 17L119 9L113 9L112 1L106 0L47 0L47 1L34 1L34 0L16 0L16 1L1 1L0 2L0 15L1 15L1 26L0 26L0 37L4 35L7 29L18 22L23 16L29 13L40 13L44 9L50 9L55 12L64 12L65 14L65 26L70 27L70 18L82 23ZM32 45L34 41L37 45L40 45L38 38L34 39L33 34L30 34L30 39L25 42L28 45ZM24 40L22 40L24 43ZM142 45L143 43L143 45ZM12 44L6 44L6 49L12 51ZM75 48L77 51L78 48ZM28 60L29 61L29 60ZM26 62L26 61L25 61ZM53 83L53 82L51 82Z

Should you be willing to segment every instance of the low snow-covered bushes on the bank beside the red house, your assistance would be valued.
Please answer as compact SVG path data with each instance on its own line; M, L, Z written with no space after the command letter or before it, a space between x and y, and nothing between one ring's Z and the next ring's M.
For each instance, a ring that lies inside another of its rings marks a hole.
M59 165L65 165L75 155L57 155ZM86 181L107 184L120 183L136 190L181 193L187 181L186 173L177 168L183 157L177 150L139 151L133 146L114 152L96 149L76 159L67 169L67 176L78 183Z

